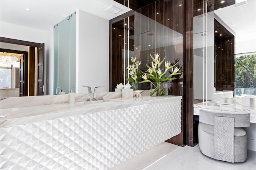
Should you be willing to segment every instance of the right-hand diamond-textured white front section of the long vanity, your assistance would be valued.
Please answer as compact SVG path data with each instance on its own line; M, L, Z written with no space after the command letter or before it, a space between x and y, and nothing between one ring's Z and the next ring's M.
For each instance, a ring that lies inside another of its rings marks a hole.
M78 116L78 169L106 170L181 132L181 100Z

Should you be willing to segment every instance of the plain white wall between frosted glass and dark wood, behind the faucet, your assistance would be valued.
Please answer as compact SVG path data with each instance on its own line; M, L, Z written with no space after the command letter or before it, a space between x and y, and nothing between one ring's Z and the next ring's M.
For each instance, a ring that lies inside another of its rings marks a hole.
M87 85L108 92L109 20L88 12L76 13L76 93L88 93Z

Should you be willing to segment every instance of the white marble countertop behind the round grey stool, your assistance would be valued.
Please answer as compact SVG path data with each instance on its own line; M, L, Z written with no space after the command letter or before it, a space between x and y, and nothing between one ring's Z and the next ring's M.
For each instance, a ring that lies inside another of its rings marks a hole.
M225 111L246 111L250 113L250 123L256 123L256 107L242 106L241 102L237 102L234 105L219 104L219 102L202 102L194 104L194 108L200 109L214 109ZM194 115L199 115L198 111L194 111Z

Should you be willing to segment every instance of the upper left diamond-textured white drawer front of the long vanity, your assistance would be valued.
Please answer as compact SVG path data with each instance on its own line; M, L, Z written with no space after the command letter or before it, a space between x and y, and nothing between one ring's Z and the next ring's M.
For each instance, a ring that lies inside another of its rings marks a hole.
M78 150L78 117L0 128L0 169L22 169Z

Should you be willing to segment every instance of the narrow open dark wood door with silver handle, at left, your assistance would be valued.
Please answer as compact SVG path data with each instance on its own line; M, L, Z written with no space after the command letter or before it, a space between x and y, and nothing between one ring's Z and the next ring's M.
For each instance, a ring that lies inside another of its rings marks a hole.
M45 95L44 84L44 43L37 48L37 96Z

